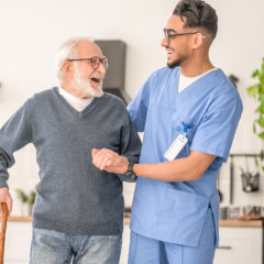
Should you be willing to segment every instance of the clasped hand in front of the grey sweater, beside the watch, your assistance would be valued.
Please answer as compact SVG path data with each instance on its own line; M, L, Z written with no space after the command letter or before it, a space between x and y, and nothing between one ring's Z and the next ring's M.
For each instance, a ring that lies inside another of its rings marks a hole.
M92 148L92 163L96 167L108 173L124 174L129 167L128 158L119 156L116 152L102 148Z

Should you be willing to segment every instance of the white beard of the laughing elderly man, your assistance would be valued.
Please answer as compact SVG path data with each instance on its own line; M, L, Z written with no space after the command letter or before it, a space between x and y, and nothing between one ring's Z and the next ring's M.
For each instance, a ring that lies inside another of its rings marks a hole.
M79 92L85 95L86 97L101 97L103 95L102 91L102 82L98 86L96 90L90 82L90 79L84 80L80 78L80 70L76 67L74 79L70 81L73 88Z

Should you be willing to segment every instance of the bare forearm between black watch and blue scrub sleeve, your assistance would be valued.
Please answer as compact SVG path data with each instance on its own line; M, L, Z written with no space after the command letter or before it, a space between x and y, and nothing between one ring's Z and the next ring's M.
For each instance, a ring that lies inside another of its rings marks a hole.
M204 175L212 161L213 155L191 152L190 156L157 164L135 164L135 175L165 182L197 180Z

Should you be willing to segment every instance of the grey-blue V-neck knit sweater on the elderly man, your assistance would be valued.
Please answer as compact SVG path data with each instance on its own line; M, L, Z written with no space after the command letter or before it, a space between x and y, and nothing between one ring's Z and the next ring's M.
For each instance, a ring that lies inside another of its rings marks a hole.
M124 103L103 94L76 111L55 87L30 98L0 130L0 187L8 187L13 153L34 144L40 167L33 227L68 234L122 231L125 175L94 166L92 148L110 148L136 163L141 142Z

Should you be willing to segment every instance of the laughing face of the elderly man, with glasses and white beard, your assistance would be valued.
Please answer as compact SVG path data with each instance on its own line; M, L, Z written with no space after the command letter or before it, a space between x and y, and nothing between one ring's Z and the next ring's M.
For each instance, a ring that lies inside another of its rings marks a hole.
M80 42L78 44L78 59L92 58L87 61L75 62L74 78L72 79L73 88L86 97L100 97L103 95L102 80L106 68L102 64L103 55L100 48L91 42Z

